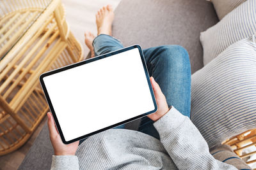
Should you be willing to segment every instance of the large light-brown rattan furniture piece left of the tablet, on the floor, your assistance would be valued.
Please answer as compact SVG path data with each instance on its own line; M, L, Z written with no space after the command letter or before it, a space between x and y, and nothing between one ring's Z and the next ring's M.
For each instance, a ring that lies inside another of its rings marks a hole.
M4 34L0 54L33 23L0 60L0 155L22 146L49 110L39 89L40 74L83 59L83 48L68 29L60 0L49 5L48 0L24 1L0 1L0 34Z

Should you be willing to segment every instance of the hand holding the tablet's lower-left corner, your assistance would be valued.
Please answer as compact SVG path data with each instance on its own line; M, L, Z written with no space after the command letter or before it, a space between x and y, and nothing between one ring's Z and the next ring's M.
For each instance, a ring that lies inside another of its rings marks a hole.
M54 154L55 155L75 155L77 147L79 145L79 141L65 145L61 141L60 134L58 133L55 127L52 114L50 112L47 113L47 117L48 117L50 139L51 139L52 146L54 148Z

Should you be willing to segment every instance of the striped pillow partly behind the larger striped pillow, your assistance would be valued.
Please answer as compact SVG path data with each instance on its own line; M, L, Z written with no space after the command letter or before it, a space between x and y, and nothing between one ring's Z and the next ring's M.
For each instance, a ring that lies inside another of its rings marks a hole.
M223 0L224 1L224 0ZM256 0L248 0L226 15L218 24L201 32L204 65L236 41L256 33Z

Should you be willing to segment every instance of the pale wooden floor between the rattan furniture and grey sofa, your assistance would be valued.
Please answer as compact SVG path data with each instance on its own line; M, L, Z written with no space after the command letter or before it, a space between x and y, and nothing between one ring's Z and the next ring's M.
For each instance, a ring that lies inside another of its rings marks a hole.
M115 9L120 1L121 0L62 0L70 31L73 32L74 36L83 46L85 56L89 52L89 49L84 45L84 31L92 31L93 34L97 34L95 13L99 8L107 4L111 4ZM1 170L14 170L20 166L46 120L47 118L45 117L25 145L15 152L0 157Z

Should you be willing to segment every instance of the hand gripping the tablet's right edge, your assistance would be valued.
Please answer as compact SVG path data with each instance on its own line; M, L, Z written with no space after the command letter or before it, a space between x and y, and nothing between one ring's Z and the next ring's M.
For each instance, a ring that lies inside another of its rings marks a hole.
M157 82L154 80L153 77L150 77L150 81L156 97L158 110L155 113L148 115L148 118L150 118L151 120L157 121L159 118L163 117L163 115L165 115L165 113L169 111L169 108L166 102L166 98L162 90L160 89L159 85L157 84Z

